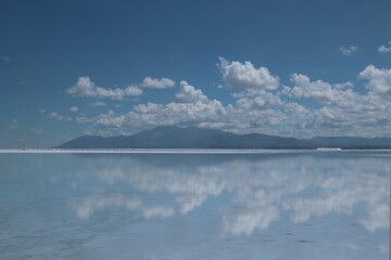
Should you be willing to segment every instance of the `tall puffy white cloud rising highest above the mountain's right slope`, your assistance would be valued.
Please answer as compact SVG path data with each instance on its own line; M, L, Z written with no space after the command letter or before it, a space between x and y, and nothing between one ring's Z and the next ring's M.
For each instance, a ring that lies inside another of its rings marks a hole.
M275 90L279 87L278 77L273 76L266 67L255 68L251 62L228 62L219 57L218 67L229 88Z

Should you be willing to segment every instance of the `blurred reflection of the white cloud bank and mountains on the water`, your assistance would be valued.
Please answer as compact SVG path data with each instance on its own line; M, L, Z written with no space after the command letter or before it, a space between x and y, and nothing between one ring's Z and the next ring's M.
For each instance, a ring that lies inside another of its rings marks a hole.
M68 200L80 218L112 207L144 218L187 214L209 198L228 194L222 233L251 234L289 216L293 223L330 213L351 216L367 231L389 226L389 157L320 154L123 155L83 157L68 178L97 195ZM93 164L92 164L93 161ZM131 193L113 193L126 185ZM101 192L104 191L104 192ZM144 194L153 205L146 204ZM166 196L168 195L168 196ZM360 212L360 213L358 213Z

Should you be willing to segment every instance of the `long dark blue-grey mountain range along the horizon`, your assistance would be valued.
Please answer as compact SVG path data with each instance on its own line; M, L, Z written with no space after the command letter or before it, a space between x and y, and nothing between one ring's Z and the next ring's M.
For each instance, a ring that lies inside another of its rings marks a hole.
M84 135L59 148L391 148L390 138L281 138L260 133L235 134L194 127L156 127L129 136Z

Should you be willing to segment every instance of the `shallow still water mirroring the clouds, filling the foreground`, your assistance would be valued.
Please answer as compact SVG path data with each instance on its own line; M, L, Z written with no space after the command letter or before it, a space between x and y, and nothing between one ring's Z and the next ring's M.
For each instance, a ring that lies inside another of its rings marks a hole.
M388 259L390 160L0 154L0 259Z

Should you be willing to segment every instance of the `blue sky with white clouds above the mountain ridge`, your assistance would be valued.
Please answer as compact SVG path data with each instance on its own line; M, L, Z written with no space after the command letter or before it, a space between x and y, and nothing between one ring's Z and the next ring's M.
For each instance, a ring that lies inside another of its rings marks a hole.
M156 126L391 136L391 1L0 2L0 147Z

